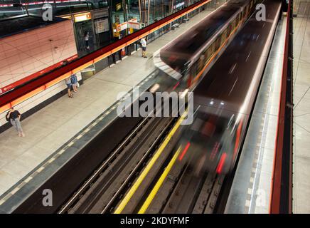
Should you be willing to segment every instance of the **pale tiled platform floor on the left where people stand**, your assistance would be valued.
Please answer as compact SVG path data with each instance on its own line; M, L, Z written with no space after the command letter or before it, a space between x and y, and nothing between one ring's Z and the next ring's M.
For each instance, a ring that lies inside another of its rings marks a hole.
M147 55L150 57L209 13L202 11L186 24L149 43ZM85 81L73 99L64 96L23 120L25 138L19 138L13 128L1 133L0 195L107 110L119 92L132 90L152 71L152 60L141 58L138 51Z

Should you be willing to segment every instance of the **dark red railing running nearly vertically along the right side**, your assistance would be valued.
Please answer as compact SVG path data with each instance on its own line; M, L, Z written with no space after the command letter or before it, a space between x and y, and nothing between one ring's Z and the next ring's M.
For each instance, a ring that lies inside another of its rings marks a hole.
M287 9L287 31L284 46L282 83L277 137L274 151L270 214L292 213L292 133L293 133L293 11L292 0Z

